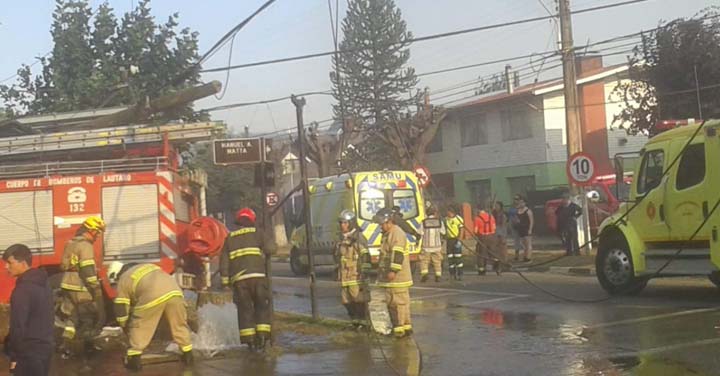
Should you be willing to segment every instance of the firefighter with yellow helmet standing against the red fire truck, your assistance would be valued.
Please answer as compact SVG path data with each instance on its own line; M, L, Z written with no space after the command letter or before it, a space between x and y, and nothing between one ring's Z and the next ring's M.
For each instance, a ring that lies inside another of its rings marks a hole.
M76 343L79 331L84 352L93 350L92 339L105 325L105 300L97 277L93 243L105 231L105 222L99 217L88 217L63 250L60 268L60 316L66 321L62 345L64 356ZM94 304L93 304L94 303Z

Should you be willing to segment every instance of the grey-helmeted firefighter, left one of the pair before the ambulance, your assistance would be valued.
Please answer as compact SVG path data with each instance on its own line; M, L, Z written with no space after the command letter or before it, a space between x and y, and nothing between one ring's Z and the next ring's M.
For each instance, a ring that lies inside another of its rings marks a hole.
M353 325L361 329L367 319L367 304L370 301L365 272L372 266L367 239L358 231L355 213L343 210L338 217L340 241L335 256L338 264L338 280L342 287L342 304L348 311Z

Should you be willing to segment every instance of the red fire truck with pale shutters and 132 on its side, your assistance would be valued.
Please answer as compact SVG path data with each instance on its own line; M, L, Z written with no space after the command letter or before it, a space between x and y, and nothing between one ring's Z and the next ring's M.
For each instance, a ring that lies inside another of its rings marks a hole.
M108 297L112 261L152 262L186 287L198 282L178 267L202 273L226 230L202 217L206 175L182 168L178 148L222 131L207 122L0 138L0 249L26 244L33 266L58 280L65 244L96 215L107 224L95 255ZM13 288L0 273L0 303Z

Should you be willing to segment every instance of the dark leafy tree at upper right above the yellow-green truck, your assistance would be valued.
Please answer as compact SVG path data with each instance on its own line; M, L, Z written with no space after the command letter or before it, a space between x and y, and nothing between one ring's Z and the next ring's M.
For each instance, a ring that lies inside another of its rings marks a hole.
M720 8L677 19L642 36L630 59L630 80L613 91L623 110L613 120L631 134L654 134L659 120L720 117ZM698 85L695 81L697 70Z

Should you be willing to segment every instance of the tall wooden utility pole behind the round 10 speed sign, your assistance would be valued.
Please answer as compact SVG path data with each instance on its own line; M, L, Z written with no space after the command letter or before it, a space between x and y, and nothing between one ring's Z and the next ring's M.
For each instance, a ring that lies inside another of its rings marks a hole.
M572 16L570 14L570 0L558 0L558 17L560 18L560 44L563 60L563 87L565 91L565 132L567 134L567 156L582 151L582 127L580 125L580 107L578 106L577 73L575 72L575 46L572 38ZM590 221L588 200L583 190L578 186L570 187L571 193L580 195L582 200L583 218L578 224L580 234L583 235L581 244L590 239ZM590 253L588 244L587 253Z

